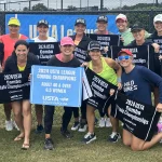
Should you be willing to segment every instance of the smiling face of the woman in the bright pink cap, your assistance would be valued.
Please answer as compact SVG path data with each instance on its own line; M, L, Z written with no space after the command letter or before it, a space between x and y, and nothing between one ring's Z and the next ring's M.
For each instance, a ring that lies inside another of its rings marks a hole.
M60 52L64 54L64 56L71 56L73 53L75 46L67 44L67 45L60 45Z

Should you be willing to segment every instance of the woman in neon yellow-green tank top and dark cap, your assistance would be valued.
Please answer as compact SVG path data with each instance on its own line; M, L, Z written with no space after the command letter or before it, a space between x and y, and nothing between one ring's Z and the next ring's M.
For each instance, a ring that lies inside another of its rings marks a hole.
M86 66L95 73L97 73L99 77L104 78L108 82L121 89L121 73L122 73L121 66L111 58L103 57L100 51L102 51L102 46L98 41L90 42L89 55L91 57L91 62L89 62ZM109 105L111 105L111 107L116 106L113 98L109 99L109 102L110 102ZM103 109L103 107L99 109ZM87 134L85 134L83 138L83 141L85 144L90 144L91 141L96 139L96 135L94 133L94 120L95 120L94 112L95 112L95 108L87 104L86 118L87 118L89 132ZM116 143L120 138L120 134L117 132L119 123L118 120L116 120L114 118L111 118L111 122L112 122L112 134L109 136L108 140Z

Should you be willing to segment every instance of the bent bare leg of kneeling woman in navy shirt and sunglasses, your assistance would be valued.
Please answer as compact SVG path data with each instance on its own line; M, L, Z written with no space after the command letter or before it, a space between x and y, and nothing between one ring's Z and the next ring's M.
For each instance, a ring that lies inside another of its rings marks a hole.
M145 141L143 139L139 139L133 136L131 148L133 151L143 151L143 150L151 148L153 145L160 141L161 138L162 138L162 132L154 135L150 141Z

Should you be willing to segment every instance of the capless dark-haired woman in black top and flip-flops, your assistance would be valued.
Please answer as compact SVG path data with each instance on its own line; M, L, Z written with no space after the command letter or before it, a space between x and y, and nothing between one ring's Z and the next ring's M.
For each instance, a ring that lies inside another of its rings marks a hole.
M31 66L39 65L37 56L29 53L29 44L25 40L18 40L14 45L12 55L6 59L3 72L16 73L27 71L30 73ZM31 130L31 106L29 99L12 102L15 122L21 134L15 141L24 139L22 149L29 148L29 136Z

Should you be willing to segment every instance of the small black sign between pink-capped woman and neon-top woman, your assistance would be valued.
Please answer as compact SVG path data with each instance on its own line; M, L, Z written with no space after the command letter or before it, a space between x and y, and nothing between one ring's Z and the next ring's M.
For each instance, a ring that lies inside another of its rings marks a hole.
M76 46L73 51L75 56L80 60L80 63L89 62L90 56L87 50L84 50L80 46Z

